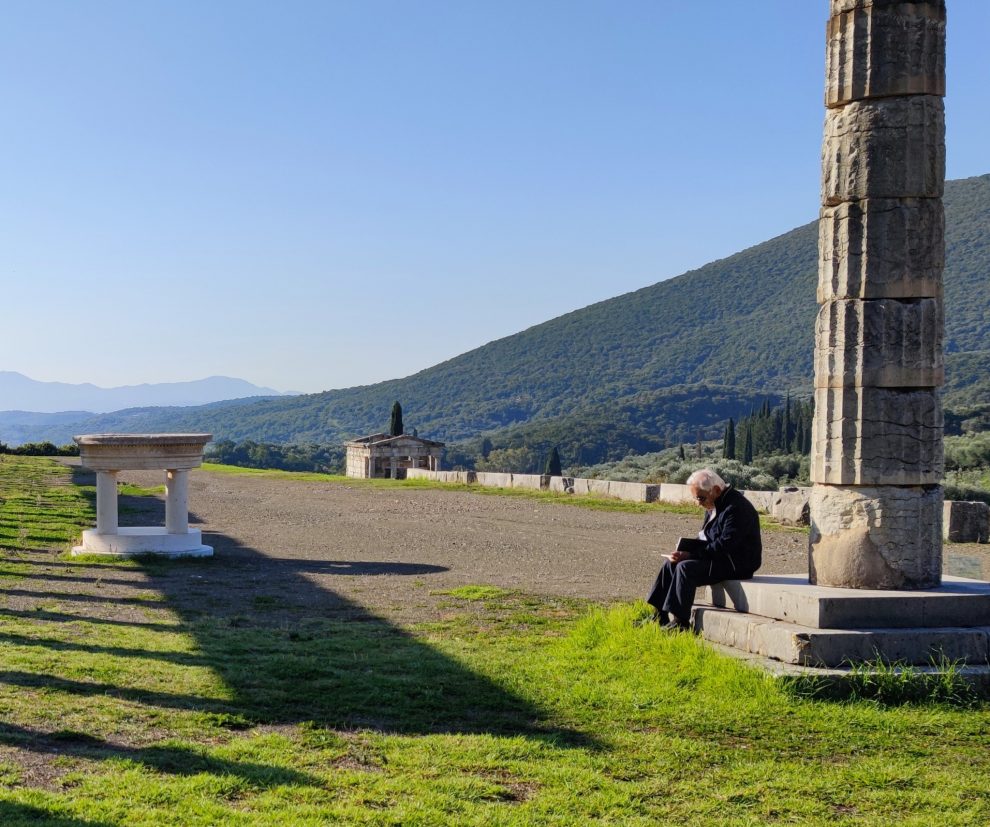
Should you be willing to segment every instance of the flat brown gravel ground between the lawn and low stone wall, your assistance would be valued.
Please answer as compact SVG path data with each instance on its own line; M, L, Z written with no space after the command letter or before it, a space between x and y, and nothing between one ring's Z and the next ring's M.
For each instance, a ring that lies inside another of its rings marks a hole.
M91 481L87 472L76 474ZM162 477L120 474L144 487L161 485ZM189 503L190 521L216 558L195 571L162 572L174 581L170 600L220 615L260 601L270 618L281 609L286 620L302 611L415 621L434 615L437 592L480 584L632 601L648 591L660 553L694 536L701 518L700 510L610 512L463 490L205 470L190 475ZM161 497L122 497L121 524L161 525L163 508ZM805 532L777 528L763 539L762 573L807 571ZM981 550L965 548L984 564Z

